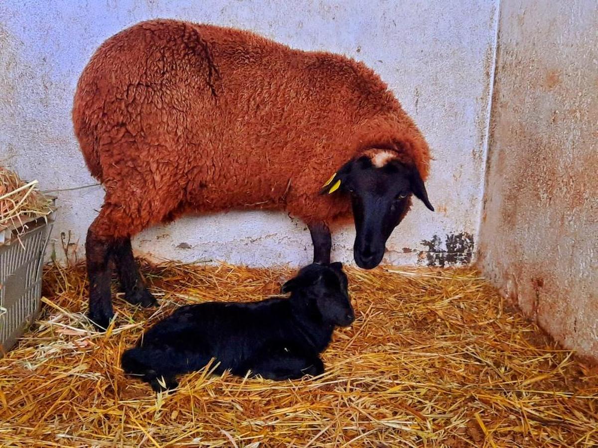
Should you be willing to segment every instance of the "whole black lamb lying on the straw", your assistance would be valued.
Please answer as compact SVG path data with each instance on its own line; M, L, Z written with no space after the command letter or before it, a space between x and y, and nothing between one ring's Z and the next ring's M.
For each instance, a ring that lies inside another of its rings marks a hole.
M312 264L287 281L287 298L253 303L208 302L182 306L155 324L124 352L126 373L156 391L176 388L176 376L202 369L215 358L216 373L283 380L319 375L335 326L354 317L341 263Z

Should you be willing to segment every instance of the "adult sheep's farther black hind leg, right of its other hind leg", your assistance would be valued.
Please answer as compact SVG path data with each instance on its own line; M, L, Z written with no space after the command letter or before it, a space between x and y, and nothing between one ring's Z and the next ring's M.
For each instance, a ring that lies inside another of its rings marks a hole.
M133 257L131 238L118 238L112 246L112 257L118 272L124 299L133 305L154 306L157 302L147 290L144 280L139 273L139 266Z

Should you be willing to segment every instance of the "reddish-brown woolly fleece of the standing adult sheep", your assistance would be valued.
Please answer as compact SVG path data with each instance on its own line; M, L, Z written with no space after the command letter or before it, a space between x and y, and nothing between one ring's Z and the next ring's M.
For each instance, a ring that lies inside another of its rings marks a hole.
M373 70L242 30L175 20L123 30L84 69L72 114L106 189L99 237L231 208L331 225L350 201L318 195L322 184L370 148L397 148L428 175L428 145Z

